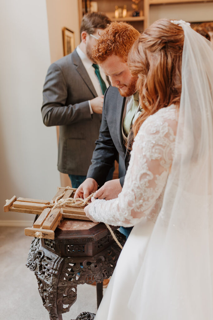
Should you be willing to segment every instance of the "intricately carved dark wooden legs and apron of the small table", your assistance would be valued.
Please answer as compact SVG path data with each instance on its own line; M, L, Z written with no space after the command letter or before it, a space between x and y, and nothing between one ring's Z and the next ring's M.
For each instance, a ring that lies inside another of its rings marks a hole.
M122 237L119 241L125 243ZM77 299L78 284L96 282L99 307L103 297L103 280L112 275L120 251L115 243L93 257L62 258L43 248L40 239L34 238L26 265L35 273L50 320L62 320L62 313L70 310ZM83 312L76 320L92 320L94 317L94 314Z

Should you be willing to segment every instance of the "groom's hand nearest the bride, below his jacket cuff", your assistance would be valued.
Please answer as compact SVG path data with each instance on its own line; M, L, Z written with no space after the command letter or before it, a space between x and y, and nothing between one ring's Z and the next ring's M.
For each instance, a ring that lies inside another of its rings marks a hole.
M121 192L122 187L119 179L110 180L104 183L104 185L98 189L94 198L110 200L117 198Z

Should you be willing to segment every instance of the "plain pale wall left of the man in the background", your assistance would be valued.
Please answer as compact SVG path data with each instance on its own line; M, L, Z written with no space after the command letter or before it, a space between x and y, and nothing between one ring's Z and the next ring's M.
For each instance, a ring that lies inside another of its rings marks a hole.
M64 26L75 32L77 45L77 0L1 2L0 225L30 226L34 220L4 213L5 199L49 200L60 185L56 128L44 126L41 106L47 69L63 56Z

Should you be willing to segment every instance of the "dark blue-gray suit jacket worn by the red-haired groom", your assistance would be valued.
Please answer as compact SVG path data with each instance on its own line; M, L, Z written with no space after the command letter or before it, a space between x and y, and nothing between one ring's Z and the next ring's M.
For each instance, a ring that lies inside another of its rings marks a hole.
M119 178L123 187L130 154L126 151L122 136L122 119L125 100L115 87L110 86L104 95L102 123L96 140L92 164L87 178L93 178L102 186L106 176L119 154ZM127 148L128 150L128 148Z

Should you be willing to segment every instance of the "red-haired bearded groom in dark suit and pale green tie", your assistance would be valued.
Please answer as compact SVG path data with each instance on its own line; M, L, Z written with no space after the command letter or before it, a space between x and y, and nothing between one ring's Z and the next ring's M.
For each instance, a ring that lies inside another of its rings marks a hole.
M112 22L102 32L93 49L93 59L109 76L111 86L104 95L102 123L96 140L92 164L87 179L76 190L75 198L86 198L93 191L95 198L110 200L121 192L129 153L126 150L132 120L139 109L136 92L137 77L132 77L127 66L128 53L139 32L125 22ZM119 154L119 179L104 183ZM132 228L120 228L126 236Z

